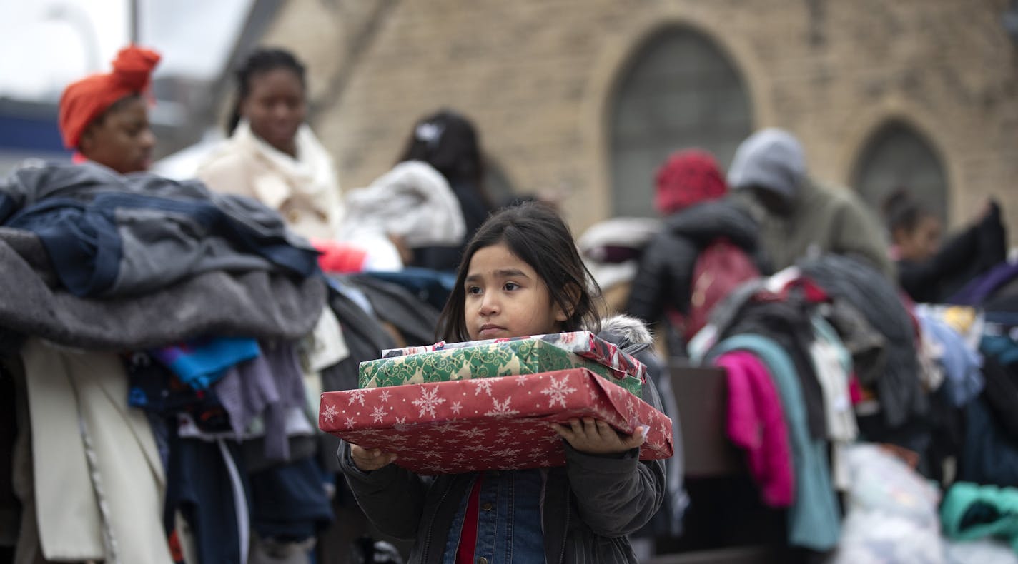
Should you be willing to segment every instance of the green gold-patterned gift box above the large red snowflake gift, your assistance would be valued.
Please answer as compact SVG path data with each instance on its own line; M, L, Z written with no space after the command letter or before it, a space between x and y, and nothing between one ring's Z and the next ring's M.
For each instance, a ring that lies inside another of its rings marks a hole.
M605 359L605 362L610 360ZM636 361L630 358L630 362ZM362 362L359 384L361 388L374 388L540 374L570 368L586 368L637 397L640 395L639 378L539 338L489 342Z

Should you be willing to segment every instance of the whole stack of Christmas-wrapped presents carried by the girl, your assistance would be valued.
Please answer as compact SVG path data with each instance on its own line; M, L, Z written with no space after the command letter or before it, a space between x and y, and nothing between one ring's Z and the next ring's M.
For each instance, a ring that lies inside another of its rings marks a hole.
M552 423L647 426L640 458L672 455L672 421L640 399L646 367L587 331L385 351L354 390L322 394L319 427L425 474L565 464Z

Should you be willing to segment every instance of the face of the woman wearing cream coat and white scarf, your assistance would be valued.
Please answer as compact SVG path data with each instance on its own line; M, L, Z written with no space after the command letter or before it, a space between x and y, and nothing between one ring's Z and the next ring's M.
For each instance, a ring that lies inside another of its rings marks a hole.
M300 77L290 69L275 68L256 73L248 80L249 90L240 103L240 114L262 140L293 154L297 129L304 122L307 108Z

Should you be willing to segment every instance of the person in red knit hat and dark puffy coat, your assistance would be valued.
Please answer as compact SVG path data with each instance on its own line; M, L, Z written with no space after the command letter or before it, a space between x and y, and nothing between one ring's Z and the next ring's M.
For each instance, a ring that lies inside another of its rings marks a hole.
M711 153L681 150L658 171L655 207L665 227L643 250L626 312L648 324L666 312L686 316L690 310L693 267L701 250L726 240L762 265L757 249L757 224L735 201L725 198L728 187ZM669 352L685 349L681 327L668 325Z

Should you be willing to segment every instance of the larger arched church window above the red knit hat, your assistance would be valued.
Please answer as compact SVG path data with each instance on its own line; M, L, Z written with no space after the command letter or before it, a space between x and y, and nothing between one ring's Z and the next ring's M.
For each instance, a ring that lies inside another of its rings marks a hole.
M615 215L656 215L654 176L669 154L699 147L727 169L752 132L742 77L703 34L653 36L622 71L611 107Z

